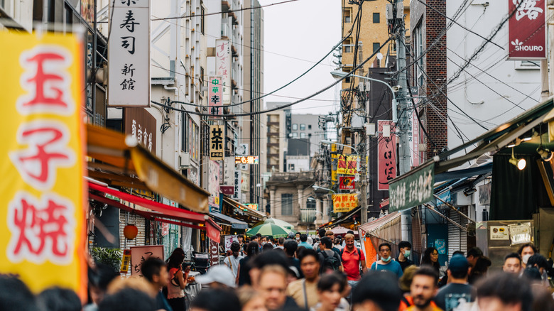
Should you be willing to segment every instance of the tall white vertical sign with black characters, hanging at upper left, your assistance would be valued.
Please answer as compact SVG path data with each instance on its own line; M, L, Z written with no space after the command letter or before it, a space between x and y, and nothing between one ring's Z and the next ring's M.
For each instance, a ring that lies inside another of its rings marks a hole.
M108 106L150 107L150 1L110 1Z

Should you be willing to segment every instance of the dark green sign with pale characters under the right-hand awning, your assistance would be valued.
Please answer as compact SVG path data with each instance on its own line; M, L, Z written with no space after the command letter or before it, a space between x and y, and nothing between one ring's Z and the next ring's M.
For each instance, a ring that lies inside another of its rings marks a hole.
M433 200L435 165L429 163L393 180L389 187L389 213Z

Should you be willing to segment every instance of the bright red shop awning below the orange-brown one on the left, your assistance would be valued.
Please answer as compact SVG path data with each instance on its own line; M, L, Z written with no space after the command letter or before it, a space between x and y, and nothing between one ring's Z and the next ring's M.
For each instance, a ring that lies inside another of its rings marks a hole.
M219 227L213 219L210 219L210 217L205 214L190 212L186 209L180 209L178 207L172 207L160 202L147 200L143 197L131 195L129 193L104 187L102 185L97 185L94 182L89 182L89 189L118 197L121 200L137 204L141 208L128 207L115 200L104 197L104 195L98 195L94 192L89 193L89 198L92 200L109 204L110 206L117 207L126 212L131 212L156 222L166 222L168 224L178 224L183 227L206 230L210 239L219 241L219 232L222 230L221 227Z

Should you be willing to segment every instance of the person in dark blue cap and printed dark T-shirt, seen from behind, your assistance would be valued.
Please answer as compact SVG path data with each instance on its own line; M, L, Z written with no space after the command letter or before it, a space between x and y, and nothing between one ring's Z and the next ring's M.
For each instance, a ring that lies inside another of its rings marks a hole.
M435 302L442 310L454 310L461 302L472 302L475 299L473 287L467 283L469 267L469 261L462 255L450 258L446 271L449 283L435 296Z

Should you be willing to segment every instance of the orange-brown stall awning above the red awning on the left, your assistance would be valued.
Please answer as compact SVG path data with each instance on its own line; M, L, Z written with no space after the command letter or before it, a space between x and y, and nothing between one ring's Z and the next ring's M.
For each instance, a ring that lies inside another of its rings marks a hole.
M132 136L87 124L87 155L96 160L88 163L88 175L95 180L151 190L195 212L209 212L209 192L163 163Z

